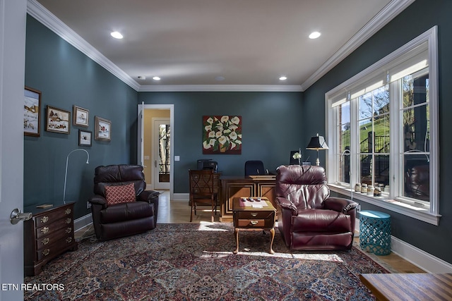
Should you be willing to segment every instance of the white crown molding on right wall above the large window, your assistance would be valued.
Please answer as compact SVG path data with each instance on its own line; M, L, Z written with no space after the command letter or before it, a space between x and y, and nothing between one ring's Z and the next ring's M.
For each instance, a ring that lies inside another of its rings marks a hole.
M302 83L302 90L305 91L311 87L317 80L323 75L326 75L329 70L333 69L338 63L343 61L348 55L355 51L359 46L367 41L376 32L381 30L384 25L388 24L393 18L398 16L399 13L405 10L415 0L392 0L388 3L379 13L372 18L369 23L364 25L359 32L357 32L351 39L340 47L338 51L333 54L319 69L314 72L305 82Z

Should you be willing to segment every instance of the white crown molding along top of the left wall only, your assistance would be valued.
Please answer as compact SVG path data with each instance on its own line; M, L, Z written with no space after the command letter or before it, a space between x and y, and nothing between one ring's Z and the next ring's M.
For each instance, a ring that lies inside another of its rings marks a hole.
M133 80L128 74L126 74L122 69L118 68L112 61L107 59L100 51L97 51L91 44L85 41L80 35L71 30L71 28L61 22L53 13L44 8L36 0L27 1L27 13L33 18L38 20L44 26L48 27L49 30L55 32L61 39L71 44L73 47L81 51L83 54L88 56L90 59L98 63L100 66L105 68L115 75L119 80L122 80L126 85L129 85L133 90L138 91L140 85Z

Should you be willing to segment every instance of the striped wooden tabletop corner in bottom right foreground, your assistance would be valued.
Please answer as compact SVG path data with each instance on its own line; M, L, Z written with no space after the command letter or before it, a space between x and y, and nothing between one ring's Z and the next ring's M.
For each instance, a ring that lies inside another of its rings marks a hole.
M452 300L452 274L361 274L377 300Z

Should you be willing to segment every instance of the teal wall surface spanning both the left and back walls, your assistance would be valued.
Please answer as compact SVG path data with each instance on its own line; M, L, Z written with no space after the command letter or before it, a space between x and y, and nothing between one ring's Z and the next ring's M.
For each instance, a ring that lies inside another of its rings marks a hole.
M302 141L301 92L136 92L89 59L34 18L27 18L25 85L42 92L42 116L47 105L72 111L75 104L94 116L112 121L111 142L93 140L92 147L78 146L78 129L70 135L50 133L41 123L40 137L25 137L24 207L61 204L66 156L73 149L84 152L69 158L66 201L77 201L76 218L90 214L86 200L93 192L94 168L108 164L136 163L137 104L174 104L174 192L188 193L188 169L197 159L218 161L226 175L243 175L246 160L259 159L269 171L289 162L290 150ZM241 115L241 155L202 154L203 115ZM93 133L94 135L94 133ZM307 151L309 152L309 151ZM313 158L314 156L311 156Z

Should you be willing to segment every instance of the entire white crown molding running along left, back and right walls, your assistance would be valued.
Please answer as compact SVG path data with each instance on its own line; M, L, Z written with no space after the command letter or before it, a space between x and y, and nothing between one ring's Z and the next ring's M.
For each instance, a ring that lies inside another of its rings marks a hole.
M415 0L392 0L372 20L364 25L343 47L333 54L323 65L316 70L302 85L139 85L124 70L107 59L100 51L85 41L80 35L71 30L59 18L50 13L36 0L28 0L27 13L38 20L44 26L55 32L59 37L81 51L90 59L122 80L137 92L189 92L189 91L216 91L216 92L303 92L319 80L329 70L343 61L349 54L355 51L361 44L367 41L384 25L410 6Z

